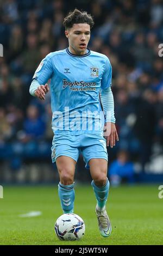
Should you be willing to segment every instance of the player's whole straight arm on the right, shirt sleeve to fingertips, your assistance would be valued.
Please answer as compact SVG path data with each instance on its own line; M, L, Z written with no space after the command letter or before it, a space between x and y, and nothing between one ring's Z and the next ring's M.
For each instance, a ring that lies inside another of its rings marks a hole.
M114 147L118 141L114 115L114 97L111 91L112 68L109 59L105 59L105 70L101 82L101 101L106 117L106 145Z

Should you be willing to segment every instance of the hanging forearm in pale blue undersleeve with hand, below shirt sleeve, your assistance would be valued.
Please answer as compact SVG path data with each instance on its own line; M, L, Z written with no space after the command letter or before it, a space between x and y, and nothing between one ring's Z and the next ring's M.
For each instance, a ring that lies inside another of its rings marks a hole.
M106 145L110 147L114 147L116 141L118 141L118 135L116 131L115 126L115 114L114 114L114 97L112 95L111 87L108 87L106 89L102 89L101 91L101 102L103 105L104 113L105 113L105 122L106 126L105 128L108 129L106 131Z

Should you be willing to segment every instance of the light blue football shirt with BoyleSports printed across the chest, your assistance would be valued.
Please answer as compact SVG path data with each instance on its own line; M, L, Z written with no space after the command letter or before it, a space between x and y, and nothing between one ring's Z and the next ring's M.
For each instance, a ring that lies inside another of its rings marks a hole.
M86 54L77 56L68 48L49 53L33 78L43 85L51 79L54 133L102 133L99 92L111 86L111 77L111 64L104 54L87 49Z

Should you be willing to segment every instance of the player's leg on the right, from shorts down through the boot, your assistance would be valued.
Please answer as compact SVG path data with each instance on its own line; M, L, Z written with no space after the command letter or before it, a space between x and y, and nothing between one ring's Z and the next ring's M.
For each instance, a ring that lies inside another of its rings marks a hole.
M82 154L86 168L90 169L92 176L92 187L97 200L96 215L98 226L101 235L107 237L111 233L111 223L105 208L109 193L109 180L106 176L108 168L106 140L102 135L87 135L85 136L85 141Z

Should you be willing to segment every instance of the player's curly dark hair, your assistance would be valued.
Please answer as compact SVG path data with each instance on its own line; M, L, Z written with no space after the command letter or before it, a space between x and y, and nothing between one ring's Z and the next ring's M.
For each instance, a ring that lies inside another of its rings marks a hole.
M90 28L93 27L94 21L90 14L87 14L86 11L79 11L78 9L74 9L70 11L68 15L65 17L63 25L65 28L72 28L74 24L78 23L87 23L90 25Z

